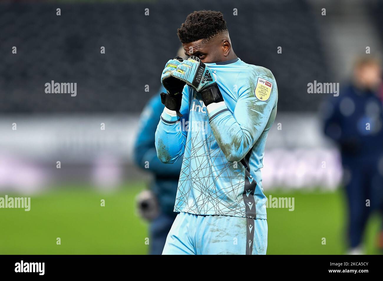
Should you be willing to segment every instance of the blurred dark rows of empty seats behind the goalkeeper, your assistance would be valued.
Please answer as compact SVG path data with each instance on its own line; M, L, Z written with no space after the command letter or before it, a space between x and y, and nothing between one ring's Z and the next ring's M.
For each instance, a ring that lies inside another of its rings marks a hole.
M321 97L306 94L307 83L327 81L329 70L306 1L174 3L1 4L0 111L138 113L142 97L149 98L145 85L149 95L157 91L159 73L180 45L177 28L201 9L222 11L236 54L273 71L279 111L317 109ZM51 80L77 83L78 95L44 93Z

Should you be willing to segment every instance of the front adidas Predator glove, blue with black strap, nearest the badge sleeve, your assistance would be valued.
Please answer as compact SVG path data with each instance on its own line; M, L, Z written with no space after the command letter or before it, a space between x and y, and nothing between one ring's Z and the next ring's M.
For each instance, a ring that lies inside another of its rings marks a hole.
M171 71L171 75L201 93L205 106L213 102L223 101L213 72L198 57L191 56L187 60L178 63L177 69Z

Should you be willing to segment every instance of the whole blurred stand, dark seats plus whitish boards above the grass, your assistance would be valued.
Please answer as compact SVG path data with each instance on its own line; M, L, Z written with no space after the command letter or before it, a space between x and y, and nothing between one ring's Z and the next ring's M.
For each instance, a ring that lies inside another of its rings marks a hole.
M269 68L277 80L278 114L265 150L264 186L339 185L339 153L324 139L317 112L327 96L308 94L307 84L342 82L366 44L381 50L382 2L175 3L0 3L0 189L33 190L57 179L86 178L96 185L142 179L131 163L139 113L157 94L160 72L180 46L177 28L188 13L202 9L222 11L238 57ZM355 15L362 27L354 24ZM101 46L106 54L100 54ZM51 80L77 83L77 96L46 94Z

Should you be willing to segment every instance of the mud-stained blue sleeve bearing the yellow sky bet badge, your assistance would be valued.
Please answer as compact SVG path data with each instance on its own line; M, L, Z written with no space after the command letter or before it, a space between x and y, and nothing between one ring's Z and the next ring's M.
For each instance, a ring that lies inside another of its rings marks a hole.
M229 162L246 156L276 112L278 90L273 74L266 68L248 70L250 74L239 75L233 85L238 92L233 113L224 101L207 106L210 127Z

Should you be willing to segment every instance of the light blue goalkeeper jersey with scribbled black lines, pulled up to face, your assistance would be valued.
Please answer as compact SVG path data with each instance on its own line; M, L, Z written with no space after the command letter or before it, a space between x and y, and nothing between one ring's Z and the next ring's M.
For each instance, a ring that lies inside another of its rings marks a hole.
M186 85L183 119L165 108L155 133L162 162L183 156L174 211L266 219L260 168L277 113L275 78L239 58L206 65L224 102L205 107L200 93Z

